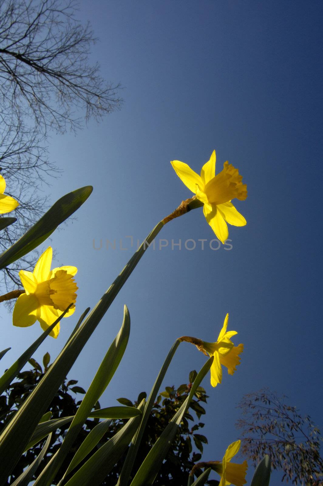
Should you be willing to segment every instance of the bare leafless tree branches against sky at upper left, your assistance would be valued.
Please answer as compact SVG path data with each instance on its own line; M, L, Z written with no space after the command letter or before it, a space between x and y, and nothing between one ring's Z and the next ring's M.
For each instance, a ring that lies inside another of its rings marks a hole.
M72 0L0 0L0 167L6 194L18 200L17 222L1 231L4 251L46 208L41 185L60 170L49 160L49 130L75 131L82 122L119 108L119 85L103 80L88 62L96 39L75 18ZM83 112L83 115L82 115ZM81 115L80 115L81 113ZM35 254L5 269L6 290Z

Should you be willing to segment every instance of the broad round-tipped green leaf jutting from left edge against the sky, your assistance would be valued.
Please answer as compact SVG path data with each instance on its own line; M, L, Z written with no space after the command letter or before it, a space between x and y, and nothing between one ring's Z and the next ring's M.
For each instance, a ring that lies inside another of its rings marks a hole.
M43 243L58 225L82 206L92 191L92 186L85 186L58 199L17 243L0 255L0 270Z

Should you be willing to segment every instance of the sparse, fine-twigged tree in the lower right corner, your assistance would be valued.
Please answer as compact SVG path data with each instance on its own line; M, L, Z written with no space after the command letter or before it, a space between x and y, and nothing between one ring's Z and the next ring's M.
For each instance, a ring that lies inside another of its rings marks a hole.
M238 405L242 418L236 423L242 435L240 453L254 465L269 454L272 468L283 471L282 481L322 485L320 430L308 415L286 405L286 398L267 388L243 396Z

